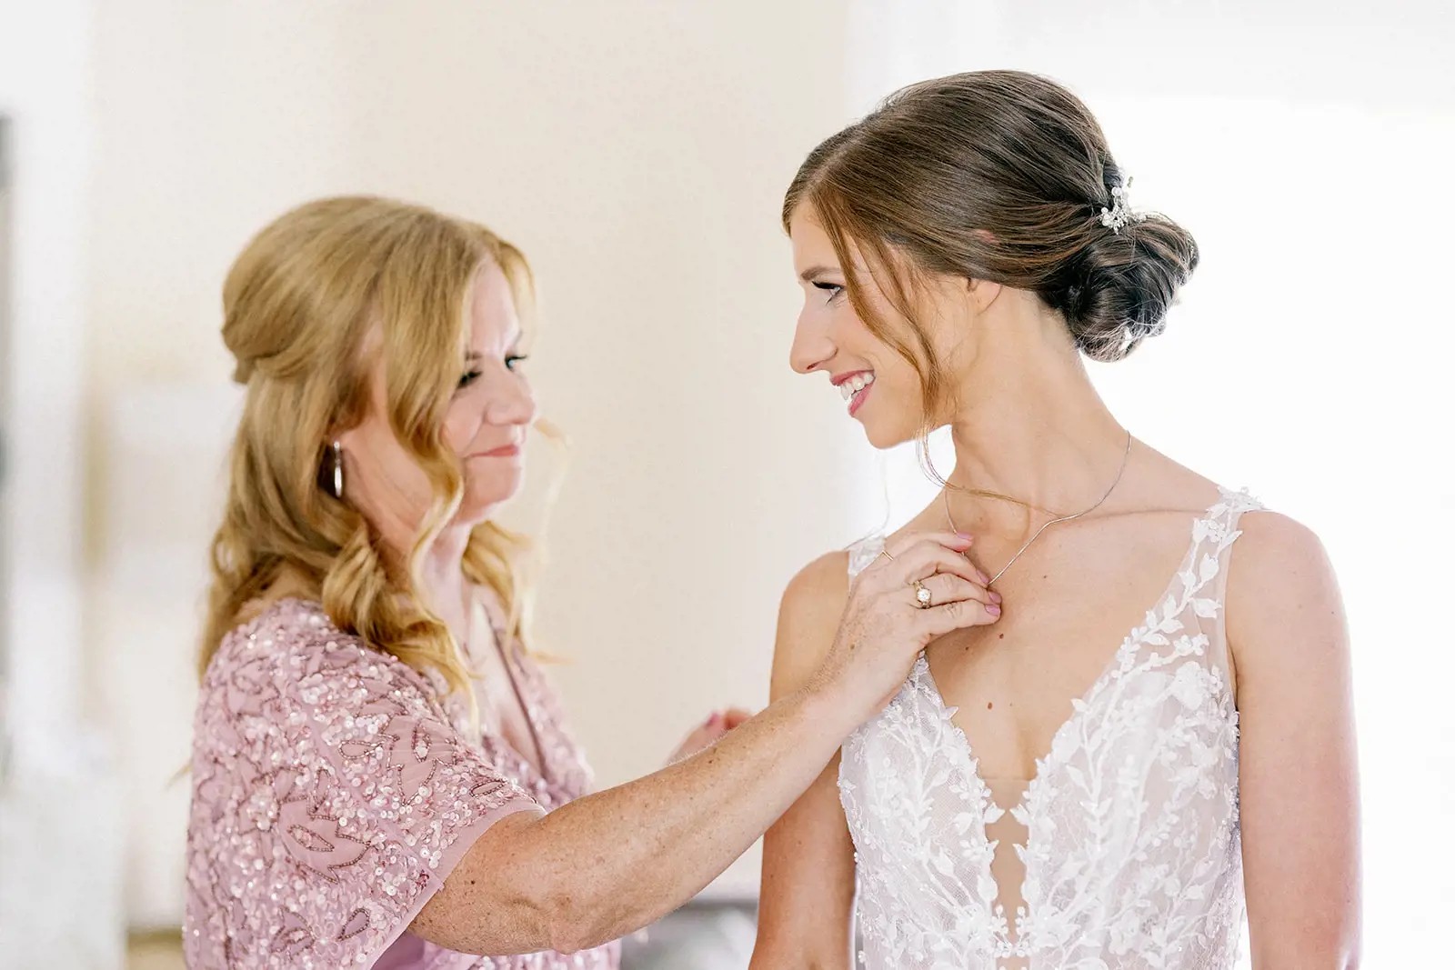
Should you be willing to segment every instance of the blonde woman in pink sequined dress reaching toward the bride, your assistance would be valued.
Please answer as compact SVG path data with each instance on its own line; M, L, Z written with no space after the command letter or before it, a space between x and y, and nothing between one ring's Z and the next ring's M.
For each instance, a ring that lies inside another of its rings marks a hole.
M247 397L195 724L194 969L614 967L611 941L748 848L925 643L998 614L968 538L890 544L806 686L588 795L522 647L521 542L492 521L535 422L528 295L483 227L371 198L284 215L227 279Z

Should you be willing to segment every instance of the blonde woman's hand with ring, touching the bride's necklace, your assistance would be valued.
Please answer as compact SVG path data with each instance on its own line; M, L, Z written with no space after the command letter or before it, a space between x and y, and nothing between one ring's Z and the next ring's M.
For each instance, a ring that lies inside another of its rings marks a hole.
M810 689L834 691L850 710L872 717L893 698L933 640L952 630L1000 620L1000 593L966 558L970 537L904 535L858 574L834 646ZM922 605L920 588L928 590Z

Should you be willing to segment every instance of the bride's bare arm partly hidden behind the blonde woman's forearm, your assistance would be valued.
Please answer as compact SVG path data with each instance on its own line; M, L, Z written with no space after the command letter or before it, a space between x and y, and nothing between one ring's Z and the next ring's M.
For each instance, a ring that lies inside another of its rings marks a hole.
M825 556L789 583L773 656L773 700L800 689L813 675L847 596L844 554ZM751 970L854 966L854 843L838 800L838 761L835 752L764 838Z

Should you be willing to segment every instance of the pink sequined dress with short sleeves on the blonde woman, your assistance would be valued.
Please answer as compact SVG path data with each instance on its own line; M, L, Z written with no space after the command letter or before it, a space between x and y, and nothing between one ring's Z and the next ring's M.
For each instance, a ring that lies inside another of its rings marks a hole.
M477 957L409 925L496 820L591 785L556 694L509 669L541 771L441 681L285 599L230 633L198 700L183 947L192 970L615 970L620 945Z

